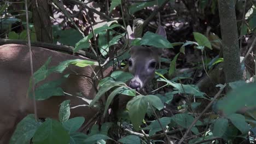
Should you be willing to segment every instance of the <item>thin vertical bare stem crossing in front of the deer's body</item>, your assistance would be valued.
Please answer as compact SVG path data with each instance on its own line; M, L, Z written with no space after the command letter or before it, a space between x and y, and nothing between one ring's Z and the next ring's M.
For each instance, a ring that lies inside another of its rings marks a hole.
M33 58L30 44L30 27L28 26L28 10L27 10L27 0L25 0L25 8L26 8L26 25L27 25L27 47L30 51L30 71L31 71L31 83L32 83L32 94L33 94L33 106L34 106L34 119L37 122L37 104L36 104L36 93L34 92L34 71L33 71Z

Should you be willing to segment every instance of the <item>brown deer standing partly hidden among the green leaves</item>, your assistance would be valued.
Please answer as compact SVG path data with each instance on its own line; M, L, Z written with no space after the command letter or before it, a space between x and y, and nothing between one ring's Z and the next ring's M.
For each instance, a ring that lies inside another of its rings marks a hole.
M160 26L156 33L166 38L164 27ZM32 46L31 49L34 70L39 69L49 56L52 57L50 65L57 65L67 59L88 59L48 50L43 47ZM130 51L129 71L134 77L129 82L129 85L133 89L142 89L154 77L161 49L147 46L132 46ZM92 76L95 75L94 70L97 68L98 66L95 65L84 68L73 66L68 67L65 73L73 73L75 71L77 74ZM16 124L28 114L34 113L33 101L26 97L31 77L30 71L30 55L25 45L6 44L0 46L0 143L8 143ZM104 70L103 76L108 76L111 71L111 68ZM66 93L75 95L75 93L81 92L84 98L93 99L96 89L92 85L92 80L77 74L69 75L61 87ZM51 74L46 81L59 79L62 75L58 73ZM36 101L38 117L58 119L59 106L62 101L67 99L71 100L71 106L88 105L81 98L71 95L50 97L46 100ZM71 109L71 118L83 116L85 121L88 121L98 111L96 107L79 106Z

